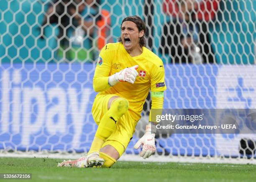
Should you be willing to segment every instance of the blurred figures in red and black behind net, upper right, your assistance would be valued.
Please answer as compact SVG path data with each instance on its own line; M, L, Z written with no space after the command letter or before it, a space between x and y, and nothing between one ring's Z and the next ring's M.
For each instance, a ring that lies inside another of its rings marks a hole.
M159 51L175 63L215 63L208 22L215 20L219 0L165 0L170 21L163 27Z

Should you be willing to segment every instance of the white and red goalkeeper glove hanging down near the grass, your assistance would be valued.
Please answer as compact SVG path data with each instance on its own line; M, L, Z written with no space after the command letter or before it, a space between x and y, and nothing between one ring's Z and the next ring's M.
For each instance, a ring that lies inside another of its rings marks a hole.
M135 149L138 149L141 145L143 145L142 151L140 153L140 156L143 157L143 159L150 157L155 152L156 150L155 135L156 135L156 126L154 124L148 124L146 125L145 134L134 145Z

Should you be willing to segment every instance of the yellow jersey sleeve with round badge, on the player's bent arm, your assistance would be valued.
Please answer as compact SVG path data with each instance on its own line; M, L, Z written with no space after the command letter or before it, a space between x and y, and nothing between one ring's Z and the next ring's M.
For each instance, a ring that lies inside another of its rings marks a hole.
M97 65L95 68L95 73L93 77L93 88L95 92L102 92L108 90L110 85L108 84L108 77L111 71L111 59L109 57L109 49L105 45L100 51L100 55L97 60Z

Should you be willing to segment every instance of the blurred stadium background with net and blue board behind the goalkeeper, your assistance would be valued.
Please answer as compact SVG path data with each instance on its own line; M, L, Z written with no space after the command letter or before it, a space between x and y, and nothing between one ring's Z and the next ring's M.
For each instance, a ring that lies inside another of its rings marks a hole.
M145 20L147 47L165 64L164 108L255 109L256 1L190 0L192 9L188 2L0 0L0 154L77 157L89 150L97 128L91 115L95 60L105 43L116 42L130 15ZM188 21L181 21L182 7L189 10ZM186 35L192 44L175 58L172 51L184 46ZM123 160L138 156L133 145L149 110L150 98ZM155 156L255 163L255 140L255 134L166 132L156 139Z

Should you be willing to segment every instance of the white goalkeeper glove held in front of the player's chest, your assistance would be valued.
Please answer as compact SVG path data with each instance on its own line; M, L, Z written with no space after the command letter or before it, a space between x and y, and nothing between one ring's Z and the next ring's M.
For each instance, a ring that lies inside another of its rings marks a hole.
M110 86L116 85L118 82L129 82L134 83L136 80L136 77L138 76L138 72L136 71L138 69L138 65L135 65L133 67L127 67L120 72L115 73L114 75L111 75L108 77L108 83Z

